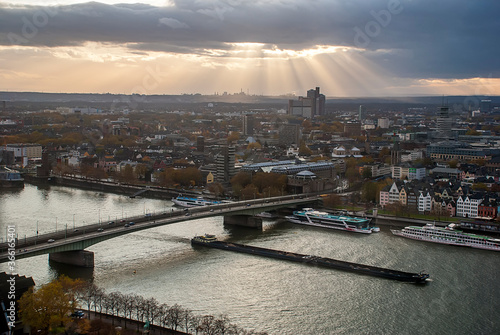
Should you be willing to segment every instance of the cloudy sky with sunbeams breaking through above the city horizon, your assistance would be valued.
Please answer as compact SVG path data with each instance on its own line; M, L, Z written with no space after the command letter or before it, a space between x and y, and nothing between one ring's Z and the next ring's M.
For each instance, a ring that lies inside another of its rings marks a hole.
M499 95L498 0L0 0L0 90Z

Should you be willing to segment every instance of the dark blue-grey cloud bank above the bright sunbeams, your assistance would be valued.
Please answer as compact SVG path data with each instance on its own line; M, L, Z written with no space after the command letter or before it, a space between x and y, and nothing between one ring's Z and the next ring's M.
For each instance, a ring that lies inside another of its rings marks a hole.
M497 0L177 0L172 6L2 6L0 45L125 44L210 54L228 43L356 47L408 78L500 77Z

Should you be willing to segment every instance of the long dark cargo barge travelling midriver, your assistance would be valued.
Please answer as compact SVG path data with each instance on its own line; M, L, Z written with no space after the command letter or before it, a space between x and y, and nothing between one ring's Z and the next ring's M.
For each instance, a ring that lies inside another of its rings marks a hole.
M301 262L306 264L313 264L323 267L328 267L332 269L351 271L360 274L382 277L387 279L394 279L403 282L411 282L411 283L425 283L429 278L427 273L410 273L403 272L398 270L391 270L380 268L371 265L363 265L345 261L339 261L332 258L312 256L312 255L303 255L297 254L293 252L286 252L280 250L273 250L267 248L254 247L244 244L232 243L232 242L223 242L217 240L217 238L213 235L203 235L203 236L195 236L191 239L192 245L201 245L209 248L216 248L221 250L229 250L242 252L251 255L259 255L270 258L284 259L292 262Z

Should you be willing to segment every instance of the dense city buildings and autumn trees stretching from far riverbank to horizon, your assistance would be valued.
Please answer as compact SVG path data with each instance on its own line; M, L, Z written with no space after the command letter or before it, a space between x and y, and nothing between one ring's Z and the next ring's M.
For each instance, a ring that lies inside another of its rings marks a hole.
M498 103L357 105L319 92L225 97L244 103L194 96L163 107L44 101L33 110L4 101L2 180L66 175L235 199L317 192L333 207L497 216Z

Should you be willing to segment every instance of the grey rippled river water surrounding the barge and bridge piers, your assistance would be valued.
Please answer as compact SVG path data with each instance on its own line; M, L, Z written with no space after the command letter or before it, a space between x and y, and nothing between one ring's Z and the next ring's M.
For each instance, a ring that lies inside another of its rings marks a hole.
M73 225L170 210L170 201L65 187L0 192L0 236L15 224L19 238ZM273 335L499 334L500 253L396 237L389 226L362 235L264 221L263 231L198 219L117 237L88 248L93 270L17 261L21 275L43 284L58 274L93 277L107 292L137 293L197 315L225 314L240 327ZM3 232L3 233L2 233ZM217 249L193 249L190 238L219 239L359 262L425 270L415 285ZM0 271L7 271L5 264Z

